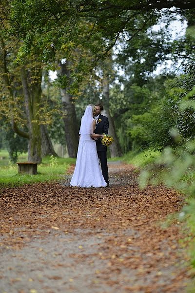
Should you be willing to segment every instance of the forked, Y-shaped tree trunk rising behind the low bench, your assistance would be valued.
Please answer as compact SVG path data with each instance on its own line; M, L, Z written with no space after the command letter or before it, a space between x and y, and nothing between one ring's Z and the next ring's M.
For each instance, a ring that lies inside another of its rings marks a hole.
M28 83L30 84L30 81L28 80L27 71L24 66L21 68L21 80L30 133L28 161L41 163L41 133L39 121L37 121L41 97L41 69L37 70L36 73L34 83L29 86Z

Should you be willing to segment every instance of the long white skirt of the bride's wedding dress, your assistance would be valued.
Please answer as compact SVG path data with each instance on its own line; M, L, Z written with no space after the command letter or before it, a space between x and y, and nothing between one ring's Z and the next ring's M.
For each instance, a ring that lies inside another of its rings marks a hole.
M90 134L84 134L82 131L78 144L75 171L70 186L86 188L106 186L99 165L96 142L91 139Z

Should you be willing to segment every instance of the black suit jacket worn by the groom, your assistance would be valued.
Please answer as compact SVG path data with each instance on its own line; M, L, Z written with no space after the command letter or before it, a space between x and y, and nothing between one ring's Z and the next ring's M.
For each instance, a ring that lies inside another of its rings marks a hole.
M99 122L99 119L101 119L100 122ZM109 127L108 117L99 114L96 129L94 130L94 133L108 134L108 127ZM96 146L97 146L97 151L106 151L107 150L107 147L102 145L100 138L98 138L98 140L96 141Z

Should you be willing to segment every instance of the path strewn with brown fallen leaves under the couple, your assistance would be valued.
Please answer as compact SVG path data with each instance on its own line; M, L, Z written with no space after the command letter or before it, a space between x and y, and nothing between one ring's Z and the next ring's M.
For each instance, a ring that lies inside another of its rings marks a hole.
M70 169L70 173L73 168ZM182 198L139 190L134 168L109 164L110 188L60 183L0 193L0 293L184 293Z

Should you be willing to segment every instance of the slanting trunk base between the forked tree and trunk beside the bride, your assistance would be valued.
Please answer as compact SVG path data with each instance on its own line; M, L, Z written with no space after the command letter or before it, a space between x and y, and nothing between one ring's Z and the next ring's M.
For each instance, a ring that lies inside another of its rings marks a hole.
M47 126L41 125L40 132L41 132L41 156L45 157L47 155L54 155L55 157L58 157L52 145L51 139L49 137Z

